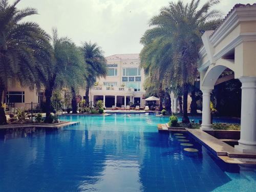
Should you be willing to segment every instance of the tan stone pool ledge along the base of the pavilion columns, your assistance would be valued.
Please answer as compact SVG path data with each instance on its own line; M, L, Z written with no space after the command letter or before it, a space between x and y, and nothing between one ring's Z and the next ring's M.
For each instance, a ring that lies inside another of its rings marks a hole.
M179 130L168 128L166 124L158 124L159 131L186 131L196 140L199 140L209 151L214 153L226 163L235 164L256 164L256 154L242 153L237 151L234 147L217 139L204 131L198 129Z

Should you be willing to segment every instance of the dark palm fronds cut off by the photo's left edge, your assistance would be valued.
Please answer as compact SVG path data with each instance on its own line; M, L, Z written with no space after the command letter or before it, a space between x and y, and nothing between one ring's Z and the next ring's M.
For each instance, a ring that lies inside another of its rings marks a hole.
M35 67L40 60L50 57L49 35L36 23L22 22L30 15L37 14L33 8L19 10L8 0L0 0L0 102L8 83L15 80L21 86L34 89L39 86Z

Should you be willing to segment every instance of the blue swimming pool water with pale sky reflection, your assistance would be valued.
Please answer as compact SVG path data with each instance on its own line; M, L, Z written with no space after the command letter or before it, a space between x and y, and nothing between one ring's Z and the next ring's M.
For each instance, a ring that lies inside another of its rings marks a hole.
M0 134L0 191L255 191L255 167L225 164L186 134L158 133L167 117L61 119L80 124Z

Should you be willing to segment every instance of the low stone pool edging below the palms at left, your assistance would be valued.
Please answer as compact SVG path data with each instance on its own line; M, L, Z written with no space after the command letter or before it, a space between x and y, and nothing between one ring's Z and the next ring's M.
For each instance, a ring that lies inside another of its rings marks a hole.
M42 128L60 128L69 125L75 125L80 122L78 121L62 121L59 123L26 123L26 124L7 124L7 125L0 125L0 130L5 129L15 129L15 128L23 128L23 127L42 127Z

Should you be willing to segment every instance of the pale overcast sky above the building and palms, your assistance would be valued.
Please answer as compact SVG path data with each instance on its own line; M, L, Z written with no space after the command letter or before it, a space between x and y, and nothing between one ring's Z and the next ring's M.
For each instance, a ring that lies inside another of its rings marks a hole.
M206 0L201 0L202 3ZM13 2L13 0L10 0ZM148 20L167 6L169 0L22 0L18 8L33 7L39 15L28 20L37 22L51 33L68 36L78 46L83 41L97 42L105 56L139 53L140 37ZM184 0L190 2L190 0ZM235 4L253 4L255 0L222 0L216 6L225 15Z

